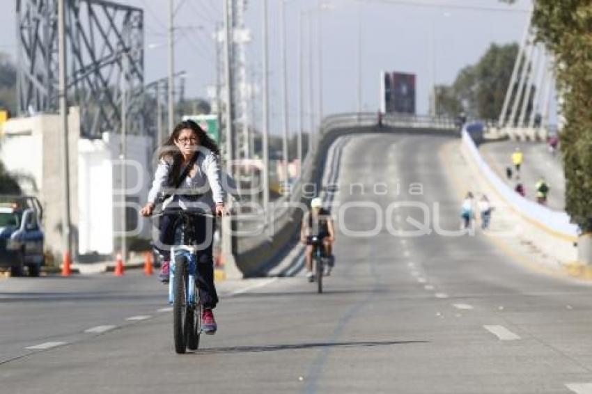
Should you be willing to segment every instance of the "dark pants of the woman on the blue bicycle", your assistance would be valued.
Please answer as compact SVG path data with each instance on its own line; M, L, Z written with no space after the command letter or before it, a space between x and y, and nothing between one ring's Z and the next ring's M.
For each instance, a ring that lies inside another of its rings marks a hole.
M173 246L175 243L175 215L164 215L159 223L160 244ZM196 243L200 246L197 252L197 286L199 299L204 308L215 308L218 304L218 294L214 285L214 259L212 258L212 244L214 241L215 219L209 216L196 215L193 217ZM171 259L170 249L159 249L164 260Z

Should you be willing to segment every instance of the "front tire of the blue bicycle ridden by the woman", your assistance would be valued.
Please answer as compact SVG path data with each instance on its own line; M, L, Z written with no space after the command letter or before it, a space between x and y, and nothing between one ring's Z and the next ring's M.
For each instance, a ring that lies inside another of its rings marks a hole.
M175 261L175 301L173 302L173 337L175 352L185 353L187 348L187 265L186 258L178 257Z

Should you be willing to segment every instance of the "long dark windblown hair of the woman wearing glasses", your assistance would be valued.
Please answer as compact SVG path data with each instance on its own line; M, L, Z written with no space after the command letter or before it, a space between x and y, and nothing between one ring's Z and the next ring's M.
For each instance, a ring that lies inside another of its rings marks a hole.
M220 156L220 148L218 148L218 145L215 143L214 140L210 138L210 136L208 136L208 133L206 133L201 127L199 127L197 123L195 123L193 120L183 120L182 122L178 123L173 129L171 135L169 136L169 139L167 139L162 144L162 147L160 149L161 152L159 155L159 159L164 159L169 162L172 161L171 171L169 171L169 178L166 182L169 187L174 187L174 184L176 183L177 178L179 178L181 172L183 156L181 155L181 152L177 145L175 145L175 141L178 140L179 134L184 129L192 130L199 139L199 145L203 146L203 148L207 148L208 150L214 152L214 155L217 156L216 159L218 159L218 157ZM198 155L199 153L200 151L196 150L196 152L194 152L194 155Z

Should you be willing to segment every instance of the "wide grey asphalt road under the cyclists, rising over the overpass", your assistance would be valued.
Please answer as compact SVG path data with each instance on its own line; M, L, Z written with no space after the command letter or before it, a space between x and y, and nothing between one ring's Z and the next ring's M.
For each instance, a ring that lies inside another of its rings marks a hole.
M350 139L325 294L302 275L222 283L219 332L194 353L173 352L154 278L0 281L0 392L592 393L589 285L528 271L479 233L391 234L423 207L430 228L458 229L449 141ZM117 328L84 333L104 325ZM66 343L24 349L46 342Z

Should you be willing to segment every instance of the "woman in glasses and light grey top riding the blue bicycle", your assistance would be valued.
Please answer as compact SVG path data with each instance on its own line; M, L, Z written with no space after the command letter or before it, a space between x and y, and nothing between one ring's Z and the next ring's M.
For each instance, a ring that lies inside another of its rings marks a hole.
M224 208L224 189L221 186L219 167L220 150L197 123L185 120L179 123L160 148L159 163L155 179L148 193L148 203L142 208L143 216L150 216L157 199L165 193L170 203L184 202L198 206L205 213L216 216L226 214ZM159 237L155 249L162 255L163 262L159 278L169 281L170 248L175 242L176 216L164 214L159 223ZM212 241L215 220L210 216L196 216L196 240L201 245L198 252L198 288L203 304L203 331L213 334L217 324L212 313L218 303L214 285L214 265ZM201 238L201 239L199 239Z

